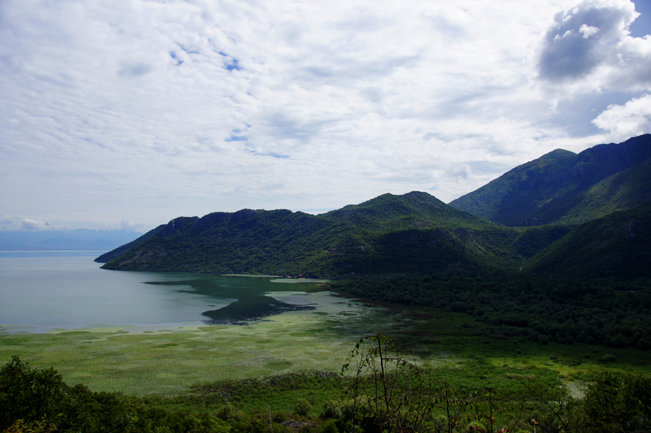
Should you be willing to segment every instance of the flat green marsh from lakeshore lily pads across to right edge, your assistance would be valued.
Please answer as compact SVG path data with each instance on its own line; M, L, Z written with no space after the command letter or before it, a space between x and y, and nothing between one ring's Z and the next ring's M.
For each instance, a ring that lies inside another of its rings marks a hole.
M290 311L246 325L87 328L46 333L0 327L0 357L20 355L36 368L54 367L68 383L96 391L173 396L198 383L260 378L308 371L338 372L360 337L390 335L404 354L423 366L464 371L482 360L499 371L555 374L586 380L601 370L651 372L648 352L584 344L521 342L490 335L471 315L433 308L370 304L332 295L302 297L316 310ZM606 357L610 361L604 361ZM614 360L612 360L614 359ZM496 370L497 371L497 370ZM544 373L543 373L544 372ZM445 373L448 374L448 373Z

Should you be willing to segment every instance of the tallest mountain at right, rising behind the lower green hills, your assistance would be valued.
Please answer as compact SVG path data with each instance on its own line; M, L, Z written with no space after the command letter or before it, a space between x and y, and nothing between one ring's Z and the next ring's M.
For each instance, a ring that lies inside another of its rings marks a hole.
M651 135L557 149L450 202L508 226L578 224L651 200Z

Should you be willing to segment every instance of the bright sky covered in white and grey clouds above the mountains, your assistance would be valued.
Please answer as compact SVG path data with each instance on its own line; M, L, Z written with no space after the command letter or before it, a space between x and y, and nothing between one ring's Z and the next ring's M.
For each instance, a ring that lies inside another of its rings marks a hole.
M0 230L444 202L651 132L651 0L0 0Z

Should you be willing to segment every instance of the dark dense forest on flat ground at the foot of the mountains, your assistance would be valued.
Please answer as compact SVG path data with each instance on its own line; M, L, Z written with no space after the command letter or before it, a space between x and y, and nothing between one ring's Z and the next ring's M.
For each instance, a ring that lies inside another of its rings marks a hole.
M649 283L559 282L519 273L485 278L385 274L351 275L332 286L375 301L468 313L486 325L486 335L650 350Z

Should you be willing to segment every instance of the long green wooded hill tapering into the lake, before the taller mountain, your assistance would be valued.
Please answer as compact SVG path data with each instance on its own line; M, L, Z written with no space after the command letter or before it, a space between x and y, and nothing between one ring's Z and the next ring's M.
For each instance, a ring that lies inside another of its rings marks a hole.
M103 268L319 277L482 273L521 265L509 249L521 232L414 191L321 215L242 209L175 218L128 251L112 251L107 257L118 257Z

